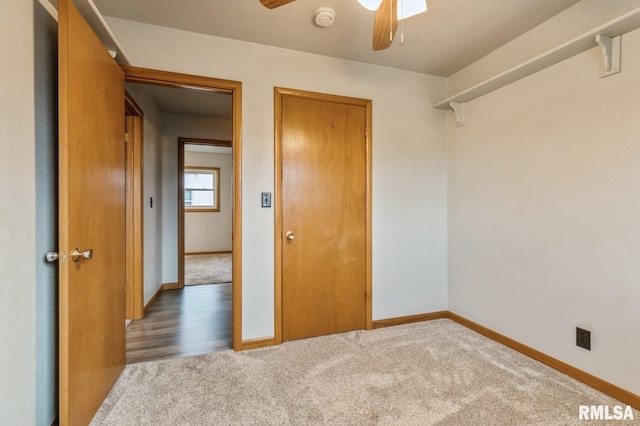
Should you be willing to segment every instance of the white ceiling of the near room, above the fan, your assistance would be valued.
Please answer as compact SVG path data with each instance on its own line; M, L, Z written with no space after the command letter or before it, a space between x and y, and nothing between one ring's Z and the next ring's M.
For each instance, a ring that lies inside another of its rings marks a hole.
M396 37L373 52L375 13L356 0L297 0L273 10L259 0L94 0L105 16L444 77L578 1L427 0L427 13L405 21L404 44ZM336 12L330 28L313 22L323 6Z

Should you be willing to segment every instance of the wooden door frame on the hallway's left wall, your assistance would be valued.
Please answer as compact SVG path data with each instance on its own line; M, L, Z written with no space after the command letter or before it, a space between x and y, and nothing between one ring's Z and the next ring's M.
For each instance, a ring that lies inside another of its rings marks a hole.
M143 167L144 112L125 91L126 138L126 312L127 319L144 317Z

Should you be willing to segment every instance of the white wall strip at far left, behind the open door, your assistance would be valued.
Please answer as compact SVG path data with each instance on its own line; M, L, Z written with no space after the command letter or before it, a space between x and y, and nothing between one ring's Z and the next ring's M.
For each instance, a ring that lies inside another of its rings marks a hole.
M36 422L34 3L0 13L0 419ZM9 60L10 58L10 60Z

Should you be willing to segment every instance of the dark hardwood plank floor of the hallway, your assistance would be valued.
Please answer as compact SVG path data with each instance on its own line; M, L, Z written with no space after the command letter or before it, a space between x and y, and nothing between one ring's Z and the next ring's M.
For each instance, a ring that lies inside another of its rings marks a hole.
M127 327L127 364L230 348L230 283L164 291Z

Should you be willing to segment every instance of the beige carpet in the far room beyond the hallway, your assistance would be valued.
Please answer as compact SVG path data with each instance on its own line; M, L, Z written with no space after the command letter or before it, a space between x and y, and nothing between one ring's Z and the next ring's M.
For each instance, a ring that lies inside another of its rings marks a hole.
M231 253L184 257L184 284L220 284L231 282Z

